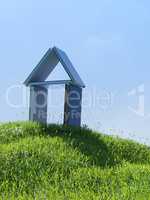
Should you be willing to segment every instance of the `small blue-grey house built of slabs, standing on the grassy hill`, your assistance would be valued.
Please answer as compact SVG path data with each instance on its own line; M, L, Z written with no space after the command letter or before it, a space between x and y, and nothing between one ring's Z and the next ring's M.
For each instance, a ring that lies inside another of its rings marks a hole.
M59 62L70 80L46 81ZM50 48L24 84L30 87L29 120L47 123L48 86L63 84L65 85L64 124L81 125L82 88L85 84L64 51L57 47Z

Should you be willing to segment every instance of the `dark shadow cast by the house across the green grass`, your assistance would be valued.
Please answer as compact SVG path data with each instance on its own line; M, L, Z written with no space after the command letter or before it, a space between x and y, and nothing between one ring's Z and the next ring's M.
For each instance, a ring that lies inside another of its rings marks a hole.
M113 155L101 135L94 134L87 128L48 125L47 133L52 137L61 137L69 146L86 155L90 165L112 167L120 164L120 160Z

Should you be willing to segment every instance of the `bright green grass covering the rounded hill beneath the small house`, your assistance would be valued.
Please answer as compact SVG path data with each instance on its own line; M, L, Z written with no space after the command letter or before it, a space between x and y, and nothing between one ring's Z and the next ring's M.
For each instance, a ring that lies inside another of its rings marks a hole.
M1 124L0 199L148 200L150 148L87 128Z

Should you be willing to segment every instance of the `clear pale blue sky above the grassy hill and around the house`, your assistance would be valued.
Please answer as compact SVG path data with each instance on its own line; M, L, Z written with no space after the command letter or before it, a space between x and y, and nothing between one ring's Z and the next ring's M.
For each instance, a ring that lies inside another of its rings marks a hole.
M28 119L27 106L8 105L8 88L22 84L55 45L86 84L83 123L150 144L149 11L148 0L1 1L0 121ZM21 102L22 90L9 90L11 102ZM49 112L57 118L63 106L55 107Z

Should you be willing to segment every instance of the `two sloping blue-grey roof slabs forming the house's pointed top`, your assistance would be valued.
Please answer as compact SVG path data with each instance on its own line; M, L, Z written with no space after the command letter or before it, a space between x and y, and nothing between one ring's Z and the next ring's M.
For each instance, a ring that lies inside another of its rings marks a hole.
M51 74L56 65L60 62L71 79L71 82L80 87L85 87L79 74L73 67L66 53L57 47L49 49L38 65L33 69L31 74L27 77L24 84L29 86L34 82L43 82Z

